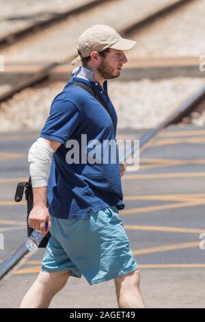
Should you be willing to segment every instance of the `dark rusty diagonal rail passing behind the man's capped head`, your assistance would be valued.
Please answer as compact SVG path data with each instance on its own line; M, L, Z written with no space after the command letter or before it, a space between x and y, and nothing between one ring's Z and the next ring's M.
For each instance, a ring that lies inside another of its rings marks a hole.
M156 18L163 18L167 14L173 13L175 10L178 10L182 8L183 5L187 5L191 1L195 0L179 0L176 3L172 3L171 5L167 5L165 8L161 10L157 10L156 12L146 16L146 18L143 18L141 21L137 21L135 23L131 23L131 25L128 25L121 30L119 30L120 34L123 37L129 37L135 32L135 34L138 31L141 31L143 27L146 27L147 25L150 25L156 21ZM102 3L102 1L93 1L95 4ZM8 90L4 92L2 95L0 95L0 104L3 101L6 101L10 99L15 93L19 92L20 90L24 90L25 88L29 86L33 86L42 80L46 79L46 77L49 77L53 69L55 69L57 66L63 66L65 64L70 63L74 58L74 55L68 56L64 60L54 61L50 64L47 64L42 68L42 70L34 73L34 75L28 77L27 79L23 80L23 82L19 82L17 86L14 86L11 90Z

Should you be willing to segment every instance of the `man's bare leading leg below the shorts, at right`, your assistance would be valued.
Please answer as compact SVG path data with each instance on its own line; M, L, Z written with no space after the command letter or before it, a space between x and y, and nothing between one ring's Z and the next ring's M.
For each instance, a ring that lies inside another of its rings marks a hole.
M115 278L115 290L119 308L145 308L139 290L139 281L139 269Z

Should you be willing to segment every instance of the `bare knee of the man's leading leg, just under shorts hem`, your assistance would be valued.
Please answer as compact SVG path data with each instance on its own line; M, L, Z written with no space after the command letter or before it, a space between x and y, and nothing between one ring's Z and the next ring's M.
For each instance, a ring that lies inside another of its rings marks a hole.
M123 288L131 288L133 286L138 287L139 282L140 282L139 269L115 278L115 285Z

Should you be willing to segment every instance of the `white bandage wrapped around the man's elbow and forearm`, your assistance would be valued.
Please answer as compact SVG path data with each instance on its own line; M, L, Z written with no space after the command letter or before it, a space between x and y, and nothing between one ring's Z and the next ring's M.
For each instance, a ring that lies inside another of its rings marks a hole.
M54 152L44 138L38 138L29 149L29 171L33 188L48 185L51 160Z

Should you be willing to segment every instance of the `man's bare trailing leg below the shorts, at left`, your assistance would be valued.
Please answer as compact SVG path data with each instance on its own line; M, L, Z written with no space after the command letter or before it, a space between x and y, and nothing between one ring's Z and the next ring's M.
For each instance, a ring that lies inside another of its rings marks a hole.
M40 272L23 298L20 308L49 308L51 299L66 285L70 271Z

